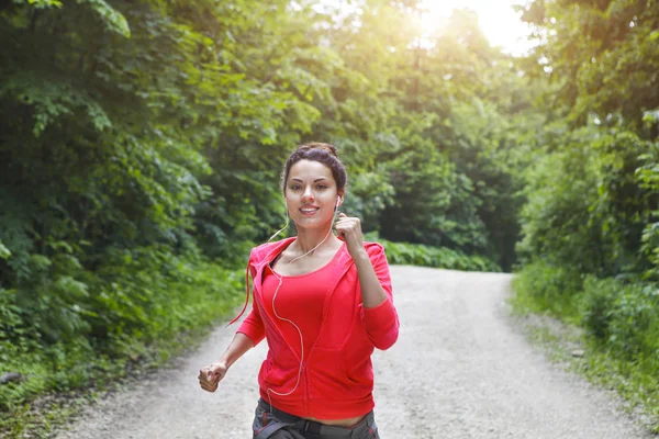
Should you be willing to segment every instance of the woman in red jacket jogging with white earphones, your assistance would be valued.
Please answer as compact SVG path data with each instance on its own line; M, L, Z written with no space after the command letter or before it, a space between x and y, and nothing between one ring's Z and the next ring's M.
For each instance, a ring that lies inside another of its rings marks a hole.
M370 357L395 342L399 319L382 246L365 243L359 218L343 213L332 234L346 182L334 146L291 154L282 190L298 236L252 250L252 312L220 360L200 370L201 387L215 392L228 368L268 338L254 438L379 437Z

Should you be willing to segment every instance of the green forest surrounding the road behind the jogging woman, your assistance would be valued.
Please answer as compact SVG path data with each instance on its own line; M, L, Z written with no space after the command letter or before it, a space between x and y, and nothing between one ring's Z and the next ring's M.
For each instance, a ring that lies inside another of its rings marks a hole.
M312 140L390 262L514 272L659 419L659 2L521 1L524 56L468 9L335 3L0 2L4 431L231 314Z

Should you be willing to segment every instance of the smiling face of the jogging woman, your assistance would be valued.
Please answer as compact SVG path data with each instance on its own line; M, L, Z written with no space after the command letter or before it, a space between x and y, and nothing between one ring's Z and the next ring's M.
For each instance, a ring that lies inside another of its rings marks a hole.
M332 222L339 192L327 166L304 159L291 166L284 196L295 224L315 228Z

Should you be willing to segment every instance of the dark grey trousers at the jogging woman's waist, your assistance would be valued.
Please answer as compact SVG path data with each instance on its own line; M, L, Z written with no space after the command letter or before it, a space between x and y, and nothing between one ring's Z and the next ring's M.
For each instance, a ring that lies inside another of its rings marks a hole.
M281 412L264 398L258 399L253 439L380 439L373 412L354 427L335 427Z

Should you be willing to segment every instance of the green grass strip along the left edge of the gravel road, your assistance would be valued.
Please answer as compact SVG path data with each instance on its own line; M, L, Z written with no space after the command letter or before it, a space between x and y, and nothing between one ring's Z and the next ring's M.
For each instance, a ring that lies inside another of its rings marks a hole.
M148 337L124 337L112 351L97 351L81 337L51 347L5 346L9 361L0 372L20 371L23 379L0 386L0 437L51 437L99 395L131 385L199 346L245 300L243 272L189 266L158 291L163 305L144 326Z

